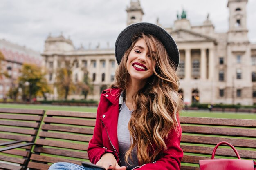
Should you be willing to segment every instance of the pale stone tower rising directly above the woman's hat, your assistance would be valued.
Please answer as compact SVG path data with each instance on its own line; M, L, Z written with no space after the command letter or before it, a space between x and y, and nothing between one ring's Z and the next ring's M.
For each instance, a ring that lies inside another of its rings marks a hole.
M127 26L137 22L142 22L142 16L144 12L140 6L139 0L130 1L130 7L126 8L127 12Z

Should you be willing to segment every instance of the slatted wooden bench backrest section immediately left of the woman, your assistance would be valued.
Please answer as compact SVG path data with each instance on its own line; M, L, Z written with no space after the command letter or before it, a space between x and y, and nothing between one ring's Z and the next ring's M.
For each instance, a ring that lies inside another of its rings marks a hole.
M82 161L88 160L86 150L95 119L96 113L47 111L28 167L48 170L52 163L81 165Z

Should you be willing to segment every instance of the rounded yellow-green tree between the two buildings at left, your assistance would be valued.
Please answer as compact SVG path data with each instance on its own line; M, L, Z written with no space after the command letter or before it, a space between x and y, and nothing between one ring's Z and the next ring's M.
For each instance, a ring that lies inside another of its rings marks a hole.
M41 73L40 67L27 63L23 64L20 73L21 75L18 80L22 88L22 99L28 98L31 101L31 98L36 97L38 91L40 91L40 84L43 81L44 75Z

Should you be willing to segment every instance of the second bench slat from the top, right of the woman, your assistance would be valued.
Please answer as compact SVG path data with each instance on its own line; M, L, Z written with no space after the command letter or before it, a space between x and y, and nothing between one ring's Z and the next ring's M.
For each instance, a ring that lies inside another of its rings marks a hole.
M224 135L224 136L256 137L256 129L219 128L219 127L183 125L182 132L210 134L210 135Z

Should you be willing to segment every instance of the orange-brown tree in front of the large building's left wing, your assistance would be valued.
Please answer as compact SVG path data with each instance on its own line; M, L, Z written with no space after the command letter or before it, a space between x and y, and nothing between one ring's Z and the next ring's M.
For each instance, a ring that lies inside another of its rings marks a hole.
M56 82L54 85L58 89L58 95L64 97L65 100L67 100L67 96L70 92L75 90L72 81L72 64L70 61L65 61L65 68L59 68L57 70Z

